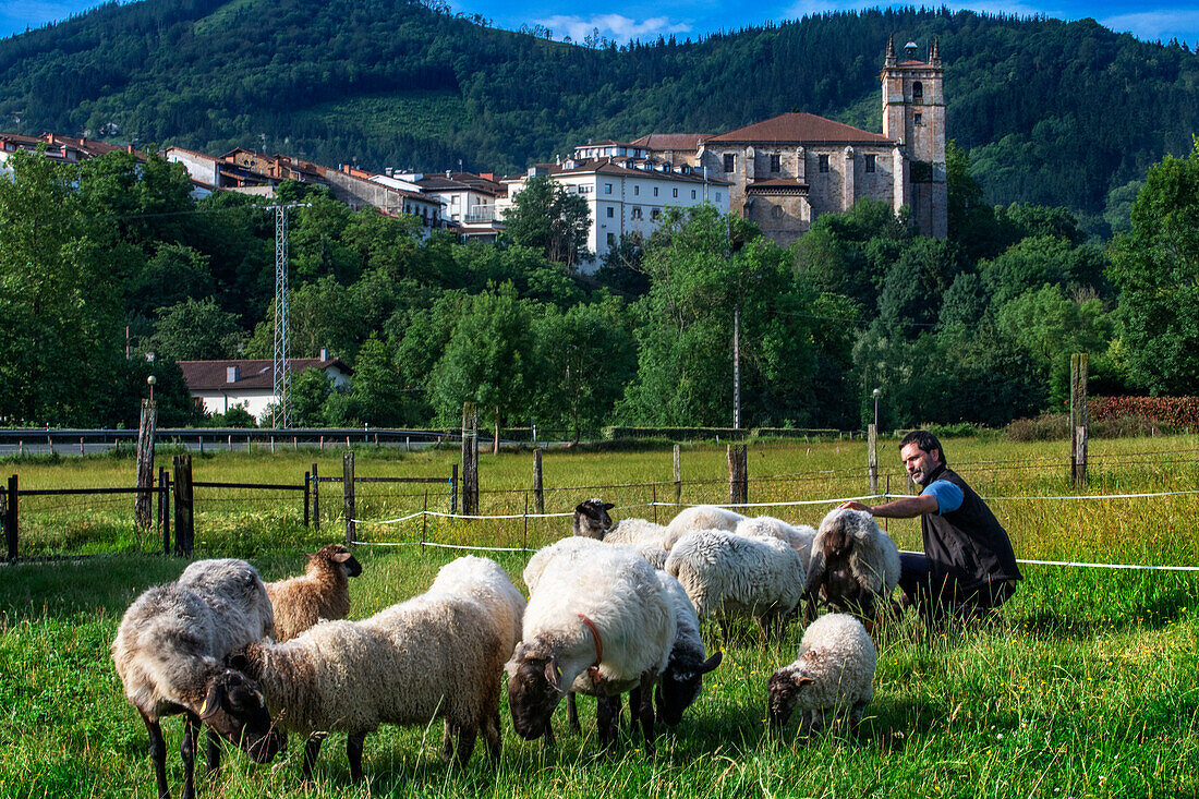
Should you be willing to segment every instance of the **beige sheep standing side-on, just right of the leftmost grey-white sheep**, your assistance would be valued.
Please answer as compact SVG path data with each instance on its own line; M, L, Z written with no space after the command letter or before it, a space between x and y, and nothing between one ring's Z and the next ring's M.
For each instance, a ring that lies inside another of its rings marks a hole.
M348 733L350 779L362 780L362 745L381 725L444 719L465 764L480 731L500 756L504 637L480 602L429 593L361 621L323 621L284 643L259 642L230 657L255 680L289 732L307 737L303 777L326 732Z

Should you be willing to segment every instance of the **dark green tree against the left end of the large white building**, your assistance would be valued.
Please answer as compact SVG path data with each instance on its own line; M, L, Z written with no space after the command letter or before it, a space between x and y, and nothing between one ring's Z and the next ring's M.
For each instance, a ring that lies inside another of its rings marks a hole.
M504 221L514 242L540 250L568 271L588 259L591 212L582 194L568 192L547 175L536 175L512 202Z

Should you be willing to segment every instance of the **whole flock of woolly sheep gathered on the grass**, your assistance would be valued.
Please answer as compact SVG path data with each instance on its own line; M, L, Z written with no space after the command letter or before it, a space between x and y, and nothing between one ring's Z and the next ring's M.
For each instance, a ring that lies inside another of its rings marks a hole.
M695 701L709 656L700 621L753 618L764 639L818 603L833 613L805 631L799 657L766 685L772 728L795 710L818 731L825 710L861 720L873 695L875 649L867 625L899 576L894 543L867 512L836 510L819 531L704 505L669 524L622 519L610 504L576 507L574 535L540 549L523 578L528 601L493 560L446 564L428 590L348 621L348 577L361 565L341 545L308 555L306 573L264 583L243 560L200 560L141 594L126 611L113 660L140 711L159 799L169 797L161 720L185 719L183 797L195 795L194 758L207 729L207 768L221 739L266 763L306 741L312 776L321 741L347 734L350 777L362 779L366 735L381 725L444 721L442 753L465 763L482 733L500 755L500 691L507 672L516 732L553 743L550 717L574 695L597 699L601 746L617 738L622 696L647 749L655 722L677 725Z

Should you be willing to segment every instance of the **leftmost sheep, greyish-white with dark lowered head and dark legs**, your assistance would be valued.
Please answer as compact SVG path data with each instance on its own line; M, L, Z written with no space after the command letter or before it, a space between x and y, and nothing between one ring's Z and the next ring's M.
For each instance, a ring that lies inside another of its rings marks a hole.
M243 560L199 560L179 581L138 596L121 619L112 654L125 696L150 733L159 799L168 799L163 716L183 714L183 797L195 797L195 739L209 727L209 770L217 768L217 737L269 763L281 737L258 685L225 668L234 648L273 630L271 603L258 571Z

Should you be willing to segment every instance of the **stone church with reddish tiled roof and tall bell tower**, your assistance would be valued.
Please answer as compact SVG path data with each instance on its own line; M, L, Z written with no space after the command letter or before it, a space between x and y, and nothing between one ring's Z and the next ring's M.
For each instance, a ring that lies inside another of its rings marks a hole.
M882 133L813 114L790 113L722 133L649 134L629 143L650 158L728 180L729 206L787 246L820 214L845 211L869 197L945 238L945 82L939 44L928 60L905 58L887 43L882 74Z

